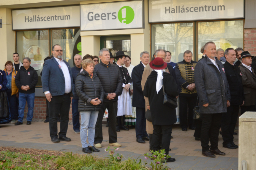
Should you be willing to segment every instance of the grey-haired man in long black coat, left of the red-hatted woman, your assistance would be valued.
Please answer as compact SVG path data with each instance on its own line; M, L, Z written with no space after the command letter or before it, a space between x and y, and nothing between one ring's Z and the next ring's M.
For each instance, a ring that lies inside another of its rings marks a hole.
M148 139L146 132L146 118L145 118L145 99L141 88L141 79L144 68L150 62L150 55L147 51L140 53L140 64L135 66L132 70L132 83L133 83L133 97L132 107L136 107L136 138L137 142L145 143Z

